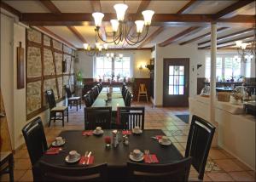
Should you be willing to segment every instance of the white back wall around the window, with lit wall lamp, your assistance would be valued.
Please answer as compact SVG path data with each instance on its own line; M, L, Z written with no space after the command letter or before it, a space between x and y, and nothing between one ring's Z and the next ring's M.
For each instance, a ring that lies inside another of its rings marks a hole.
M116 54L131 55L133 59L133 77L148 78L149 71L147 68L139 70L140 65L148 65L150 63L151 51L150 50L119 50L115 51ZM78 51L79 59L75 61L75 71L82 71L84 78L93 78L93 57L88 56L84 51Z

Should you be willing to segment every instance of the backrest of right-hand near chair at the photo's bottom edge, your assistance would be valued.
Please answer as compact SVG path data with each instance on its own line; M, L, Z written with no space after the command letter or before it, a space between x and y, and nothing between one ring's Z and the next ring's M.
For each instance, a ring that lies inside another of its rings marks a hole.
M188 181L191 157L170 164L127 162L132 181Z

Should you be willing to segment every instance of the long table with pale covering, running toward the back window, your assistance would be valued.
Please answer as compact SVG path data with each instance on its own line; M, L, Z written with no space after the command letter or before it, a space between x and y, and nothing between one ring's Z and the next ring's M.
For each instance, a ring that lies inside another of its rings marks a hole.
M102 92L97 96L91 107L112 107L112 111L117 111L117 107L124 107L125 101L123 100L121 88L113 88L112 100L107 100L108 88L102 88Z

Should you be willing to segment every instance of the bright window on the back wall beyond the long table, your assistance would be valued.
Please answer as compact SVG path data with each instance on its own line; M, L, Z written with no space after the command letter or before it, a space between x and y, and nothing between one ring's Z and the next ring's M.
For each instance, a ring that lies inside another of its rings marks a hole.
M132 77L131 56L124 56L122 60L119 60L118 57L114 60L107 57L96 57L94 77L108 81L108 79L112 79L112 76L114 81Z

